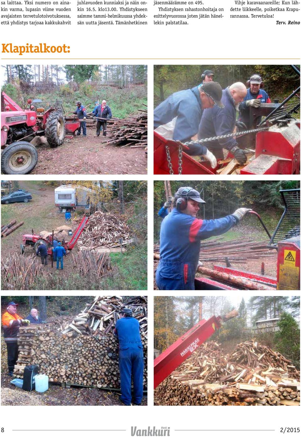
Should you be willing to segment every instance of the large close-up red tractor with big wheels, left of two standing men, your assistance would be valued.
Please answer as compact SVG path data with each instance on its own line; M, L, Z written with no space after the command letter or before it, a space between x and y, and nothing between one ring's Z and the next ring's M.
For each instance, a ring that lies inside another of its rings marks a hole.
M47 108L47 109L46 109ZM1 173L27 174L38 162L38 152L30 141L44 136L50 147L61 146L65 134L73 135L80 121L66 118L60 101L28 99L24 109L1 93Z

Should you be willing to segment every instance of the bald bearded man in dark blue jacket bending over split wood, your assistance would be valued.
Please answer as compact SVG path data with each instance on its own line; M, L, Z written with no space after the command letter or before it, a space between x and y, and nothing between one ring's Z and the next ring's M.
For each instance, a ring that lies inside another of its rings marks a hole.
M214 107L203 112L198 139L233 133L236 123L236 111L246 94L247 88L242 82L233 83L230 87L223 90L221 101L224 104L224 108ZM234 136L208 141L203 144L207 146L217 159L224 159L223 149L227 149L240 164L244 164L247 160L244 150L238 147L238 142Z

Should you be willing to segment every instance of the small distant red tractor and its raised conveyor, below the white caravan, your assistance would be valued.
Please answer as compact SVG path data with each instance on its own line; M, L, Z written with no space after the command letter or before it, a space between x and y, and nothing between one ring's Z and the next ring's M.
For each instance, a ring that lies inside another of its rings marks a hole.
M63 242L63 247L65 250L72 250L76 245L77 240L79 239L81 233L84 230L85 225L87 224L90 217L90 210L85 211L85 215L81 220L81 223L77 226L76 231L74 232L72 238L68 242ZM25 234L22 237L23 244L21 244L21 253L24 253L25 246L33 246L33 250L35 253L38 250L38 246L40 243L44 243L47 247L48 255L52 255L52 235L49 235L47 238L41 238L36 234Z

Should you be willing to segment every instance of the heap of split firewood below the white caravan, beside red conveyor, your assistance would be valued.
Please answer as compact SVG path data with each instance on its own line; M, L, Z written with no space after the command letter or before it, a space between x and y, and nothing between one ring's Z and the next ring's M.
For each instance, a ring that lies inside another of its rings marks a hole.
M91 215L79 245L86 247L114 247L119 246L119 238L123 241L130 239L130 228L125 220L109 212L96 211Z

